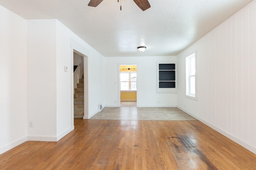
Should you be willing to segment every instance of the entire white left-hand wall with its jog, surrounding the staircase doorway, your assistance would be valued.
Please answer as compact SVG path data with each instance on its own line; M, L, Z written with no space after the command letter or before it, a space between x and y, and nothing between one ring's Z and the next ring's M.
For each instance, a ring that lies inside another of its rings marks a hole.
M87 118L98 112L102 55L58 20L26 21L0 6L0 25L0 154L27 140L58 141L74 129L71 41L86 51L91 66Z

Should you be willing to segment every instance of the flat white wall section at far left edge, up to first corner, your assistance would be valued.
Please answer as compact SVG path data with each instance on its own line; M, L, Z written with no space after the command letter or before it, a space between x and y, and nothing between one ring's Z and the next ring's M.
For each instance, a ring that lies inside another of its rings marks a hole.
M0 154L27 140L26 20L0 6Z

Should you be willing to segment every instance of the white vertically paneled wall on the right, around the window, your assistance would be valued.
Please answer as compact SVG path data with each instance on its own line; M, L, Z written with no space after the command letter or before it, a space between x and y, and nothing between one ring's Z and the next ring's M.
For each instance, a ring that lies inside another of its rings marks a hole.
M256 153L256 1L177 56L178 107ZM185 98L185 57L197 53L198 101Z

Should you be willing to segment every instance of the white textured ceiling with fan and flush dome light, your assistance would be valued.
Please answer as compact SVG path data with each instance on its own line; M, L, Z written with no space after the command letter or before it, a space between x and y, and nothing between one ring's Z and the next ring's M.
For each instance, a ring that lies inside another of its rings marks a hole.
M0 0L25 19L58 19L105 57L171 56L200 39L252 0ZM120 2L122 11L120 11ZM146 46L142 53L138 46Z

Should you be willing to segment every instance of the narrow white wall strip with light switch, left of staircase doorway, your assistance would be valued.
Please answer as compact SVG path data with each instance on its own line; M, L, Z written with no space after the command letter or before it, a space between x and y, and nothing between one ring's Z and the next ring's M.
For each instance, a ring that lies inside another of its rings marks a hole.
M73 112L73 58L70 54L70 33L58 20L56 21L56 93L57 93L57 138L61 139L74 129ZM64 71L68 66L68 71Z

